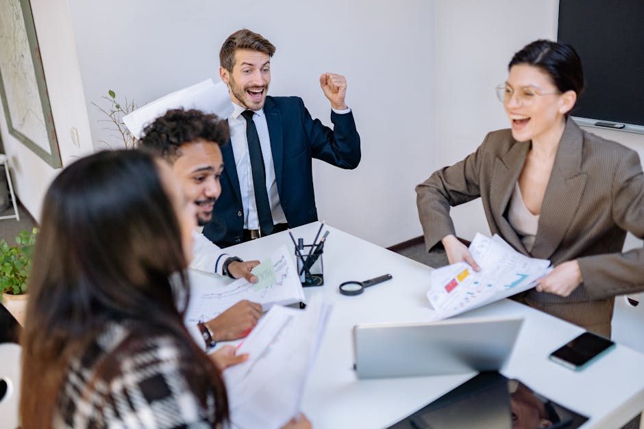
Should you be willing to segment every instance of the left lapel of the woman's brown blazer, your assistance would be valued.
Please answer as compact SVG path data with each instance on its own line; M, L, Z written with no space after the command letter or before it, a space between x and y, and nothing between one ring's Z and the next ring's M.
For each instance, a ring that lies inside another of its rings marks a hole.
M512 247L525 255L528 255L528 250L525 250L519 235L510 226L510 222L505 218L504 213L506 212L506 207L508 207L508 201L512 196L515 183L517 183L519 174L523 170L523 164L525 164L525 157L528 155L529 148L530 142L516 142L512 144L510 151L503 157L497 157L494 160L490 190L490 208L500 235Z

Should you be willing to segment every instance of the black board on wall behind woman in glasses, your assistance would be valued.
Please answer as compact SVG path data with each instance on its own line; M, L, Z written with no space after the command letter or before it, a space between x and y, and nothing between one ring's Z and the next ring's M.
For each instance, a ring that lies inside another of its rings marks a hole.
M558 41L584 68L573 116L644 126L644 1L560 0Z

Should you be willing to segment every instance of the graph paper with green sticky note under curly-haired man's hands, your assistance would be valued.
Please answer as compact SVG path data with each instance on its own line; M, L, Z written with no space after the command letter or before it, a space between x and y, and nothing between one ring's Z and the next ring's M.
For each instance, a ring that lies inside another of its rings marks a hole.
M230 279L217 274L188 270L190 301L184 322L195 339L203 342L197 328L199 320L214 319L240 300L258 302L264 310L274 304L288 305L304 301L304 289L286 246L278 248L270 259L260 263L253 272L258 276L258 283L255 284L244 278L229 283Z

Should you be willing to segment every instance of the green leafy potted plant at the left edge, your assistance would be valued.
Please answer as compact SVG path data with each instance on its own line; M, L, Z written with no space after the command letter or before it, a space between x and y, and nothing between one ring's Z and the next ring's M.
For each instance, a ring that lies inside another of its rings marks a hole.
M32 252L38 229L21 231L16 246L0 240L0 291L2 304L21 324L27 307L27 277L32 265Z

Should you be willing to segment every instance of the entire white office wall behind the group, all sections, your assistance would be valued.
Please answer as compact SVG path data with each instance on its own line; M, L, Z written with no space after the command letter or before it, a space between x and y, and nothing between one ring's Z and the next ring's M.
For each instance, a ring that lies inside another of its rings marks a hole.
M474 151L488 131L508 126L493 88L506 78L512 53L554 37L556 6L556 0L331 0L319 7L279 0L267 8L254 0L240 9L202 0L32 0L64 165L91 152L92 142L119 146L90 102L100 103L111 89L143 104L206 77L216 81L221 42L240 27L277 46L270 93L302 96L327 124L319 73L345 74L363 159L353 171L316 162L319 215L382 246L421 235L414 185ZM81 147L71 142L72 127ZM643 135L591 131L644 159ZM37 218L57 170L8 134L1 106L0 133L18 196ZM478 201L453 216L462 237L487 230Z

